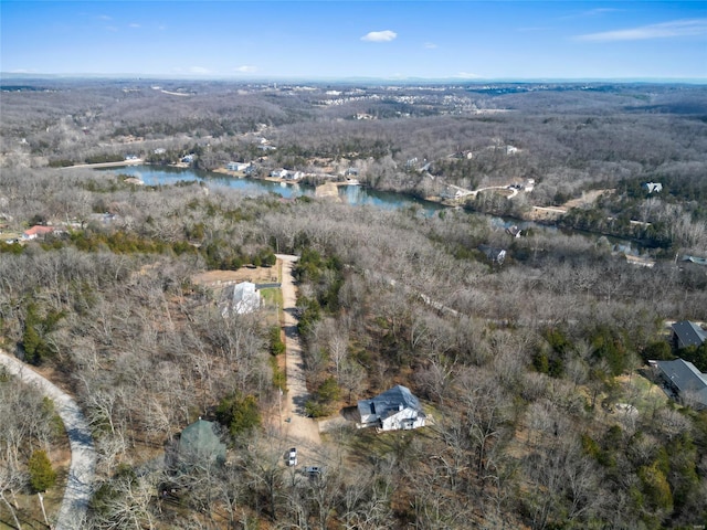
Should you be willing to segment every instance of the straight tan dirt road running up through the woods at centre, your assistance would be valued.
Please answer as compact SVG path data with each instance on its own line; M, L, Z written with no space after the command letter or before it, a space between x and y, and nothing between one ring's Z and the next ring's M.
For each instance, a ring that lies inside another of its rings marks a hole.
M292 268L297 256L277 254L282 262L282 292L286 347L287 394L283 396L281 428L293 444L319 444L318 423L307 417L305 403L309 399L303 370L302 346L297 332L297 288Z

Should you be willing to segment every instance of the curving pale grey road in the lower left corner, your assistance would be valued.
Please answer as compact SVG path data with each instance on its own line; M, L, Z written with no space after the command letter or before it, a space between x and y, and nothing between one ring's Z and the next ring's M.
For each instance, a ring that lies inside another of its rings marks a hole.
M88 422L76 402L59 386L31 370L14 357L0 351L0 364L22 381L35 385L54 402L56 413L64 422L71 447L71 465L64 499L54 524L55 530L78 530L84 526L86 509L93 492L96 453Z

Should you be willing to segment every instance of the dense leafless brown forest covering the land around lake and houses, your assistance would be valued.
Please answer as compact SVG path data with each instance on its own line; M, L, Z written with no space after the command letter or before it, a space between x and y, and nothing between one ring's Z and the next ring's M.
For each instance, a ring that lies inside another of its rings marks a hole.
M0 94L0 346L70 390L91 423L85 528L707 524L707 412L671 400L647 364L679 356L707 371L707 346L675 351L666 324L707 321L707 267L673 259L707 255L705 87L159 85L22 81ZM68 167L161 149L203 169L320 160L423 197L440 181L537 184L515 203L482 194L423 215ZM650 223L631 235L655 243L654 266L605 237L513 237L476 213L609 189L559 223ZM8 235L38 224L55 230ZM224 315L194 279L276 268L275 252L299 256L307 412L337 417L404 384L430 425L377 434L349 422L306 447L325 470L316 479L284 465L277 304ZM63 443L51 403L20 386L0 372L8 526L32 518L33 455ZM199 417L220 425L225 464L175 456Z

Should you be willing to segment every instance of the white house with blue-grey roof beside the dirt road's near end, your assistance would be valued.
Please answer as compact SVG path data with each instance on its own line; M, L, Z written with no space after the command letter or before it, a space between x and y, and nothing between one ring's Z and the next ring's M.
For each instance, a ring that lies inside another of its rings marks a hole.
M426 420L418 398L400 384L373 399L359 401L358 412L359 427L374 426L381 431L423 427Z

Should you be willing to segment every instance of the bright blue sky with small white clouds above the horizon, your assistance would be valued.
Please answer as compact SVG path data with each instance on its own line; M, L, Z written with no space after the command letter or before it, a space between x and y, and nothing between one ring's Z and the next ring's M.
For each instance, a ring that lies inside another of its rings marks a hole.
M707 81L705 1L0 0L0 71Z

